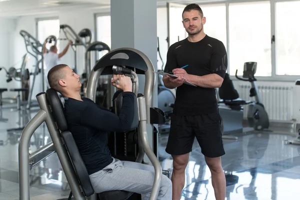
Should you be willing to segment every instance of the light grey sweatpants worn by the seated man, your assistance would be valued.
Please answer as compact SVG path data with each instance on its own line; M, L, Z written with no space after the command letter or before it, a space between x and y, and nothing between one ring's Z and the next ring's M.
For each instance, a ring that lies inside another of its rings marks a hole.
M131 161L113 161L102 170L89 175L91 185L96 193L109 190L125 190L149 199L154 181L154 167ZM172 199L172 182L162 175L157 199Z

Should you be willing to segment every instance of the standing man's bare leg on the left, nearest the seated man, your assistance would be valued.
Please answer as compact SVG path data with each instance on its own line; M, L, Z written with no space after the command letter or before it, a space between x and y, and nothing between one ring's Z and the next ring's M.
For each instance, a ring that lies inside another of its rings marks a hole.
M179 200L185 182L185 167L188 163L189 153L183 155L172 155L173 172L172 180L172 200Z

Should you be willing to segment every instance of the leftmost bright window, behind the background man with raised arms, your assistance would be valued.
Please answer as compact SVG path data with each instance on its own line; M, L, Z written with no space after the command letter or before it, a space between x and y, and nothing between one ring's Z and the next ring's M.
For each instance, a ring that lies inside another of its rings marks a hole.
M59 37L59 19L43 19L37 21L37 39L43 44L45 39L54 35L56 38ZM47 43L46 48L49 49L52 44ZM56 43L57 50L59 52L59 40Z

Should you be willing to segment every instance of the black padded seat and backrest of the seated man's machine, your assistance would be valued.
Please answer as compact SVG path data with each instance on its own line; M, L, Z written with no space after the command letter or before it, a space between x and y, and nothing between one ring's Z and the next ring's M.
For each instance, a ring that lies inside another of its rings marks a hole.
M90 196L94 194L94 190L90 183L87 169L80 156L76 142L72 136L72 133L68 131L67 122L64 114L64 108L61 103L61 100L59 99L57 92L52 88L46 90L46 97L52 109L51 111L53 114L53 119L56 122L58 129L61 132L64 145L68 151L68 155L70 157L70 160L76 172L78 181L81 185L83 194L85 196ZM128 199L132 194L133 192L129 192L129 191L112 190L112 191L101 192L98 194L98 196L100 200L124 200L124 199Z

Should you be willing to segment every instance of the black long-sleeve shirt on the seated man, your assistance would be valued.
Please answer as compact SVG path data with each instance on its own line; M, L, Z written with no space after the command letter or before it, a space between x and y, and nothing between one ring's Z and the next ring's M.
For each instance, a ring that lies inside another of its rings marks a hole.
M103 169L112 162L107 147L107 132L130 128L134 117L135 95L123 92L119 115L97 105L89 98L83 101L68 98L64 103L68 129L72 133L88 174Z

